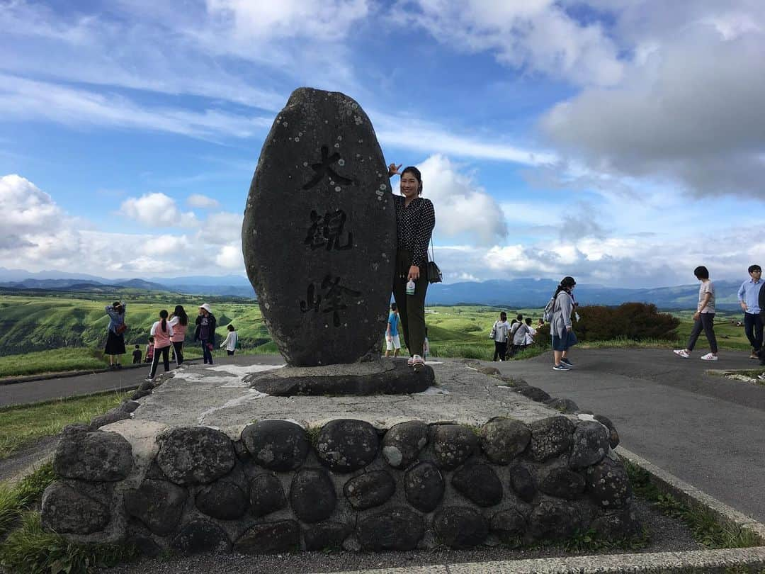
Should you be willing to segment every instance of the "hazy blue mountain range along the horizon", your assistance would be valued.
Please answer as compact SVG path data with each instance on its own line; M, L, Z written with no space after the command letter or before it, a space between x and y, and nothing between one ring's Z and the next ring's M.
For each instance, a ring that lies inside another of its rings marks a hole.
M504 306L507 308L543 307L558 282L552 279L511 279L484 282L461 282L428 288L428 305L457 305L458 303ZM740 282L717 281L715 289L718 308L738 308L737 290ZM0 288L66 290L79 292L114 292L115 289L145 289L147 291L180 292L190 295L255 297L255 291L243 276L155 277L149 279L104 279L82 273L43 271L31 273L0 267ZM698 299L698 283L655 289L628 289L604 285L579 284L575 297L582 305L620 305L624 302L653 303L661 309L692 309Z

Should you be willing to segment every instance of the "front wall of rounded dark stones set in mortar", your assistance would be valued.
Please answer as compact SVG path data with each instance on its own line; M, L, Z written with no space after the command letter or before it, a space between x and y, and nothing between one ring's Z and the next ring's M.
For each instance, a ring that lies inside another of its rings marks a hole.
M467 548L640 528L613 433L595 420L376 429L335 419L308 430L264 420L236 440L146 425L67 429L44 526L146 554Z

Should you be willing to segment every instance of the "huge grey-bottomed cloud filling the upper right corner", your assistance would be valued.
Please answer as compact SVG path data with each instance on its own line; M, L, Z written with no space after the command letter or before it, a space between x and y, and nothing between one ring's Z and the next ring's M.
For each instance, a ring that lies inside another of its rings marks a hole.
M608 90L558 103L542 129L593 171L668 181L697 196L762 198L765 12L749 2L643 2L620 18L635 57ZM658 13L658 12L657 12Z

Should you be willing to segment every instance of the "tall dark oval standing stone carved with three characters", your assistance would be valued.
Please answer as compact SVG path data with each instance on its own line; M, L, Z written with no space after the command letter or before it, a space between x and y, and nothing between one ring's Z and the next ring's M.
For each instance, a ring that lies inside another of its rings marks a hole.
M288 364L379 355L396 218L385 158L353 99L311 88L291 94L252 178L242 246Z

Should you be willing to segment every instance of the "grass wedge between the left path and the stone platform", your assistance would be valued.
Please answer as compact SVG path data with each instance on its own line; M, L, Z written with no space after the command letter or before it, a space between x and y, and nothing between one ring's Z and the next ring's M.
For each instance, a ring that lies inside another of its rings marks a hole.
M122 403L125 396L126 393L102 393L0 408L0 460L24 445L56 435L73 422L90 422L94 416Z

